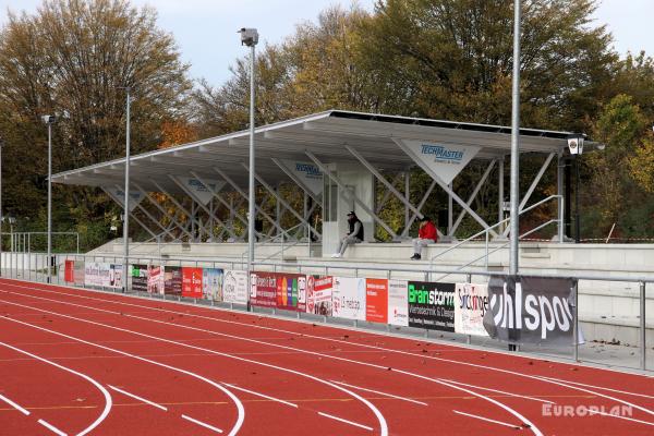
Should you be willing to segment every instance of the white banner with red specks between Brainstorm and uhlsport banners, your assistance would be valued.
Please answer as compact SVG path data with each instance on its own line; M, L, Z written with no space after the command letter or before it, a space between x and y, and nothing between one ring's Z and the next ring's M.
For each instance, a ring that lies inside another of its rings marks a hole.
M455 295L455 331L462 335L488 336L484 315L488 312L486 284L457 283Z

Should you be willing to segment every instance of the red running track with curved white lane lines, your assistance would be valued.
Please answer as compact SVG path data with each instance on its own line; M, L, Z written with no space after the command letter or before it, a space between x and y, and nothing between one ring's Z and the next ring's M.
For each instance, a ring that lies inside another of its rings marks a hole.
M652 377L7 279L0 371L0 435L654 434Z

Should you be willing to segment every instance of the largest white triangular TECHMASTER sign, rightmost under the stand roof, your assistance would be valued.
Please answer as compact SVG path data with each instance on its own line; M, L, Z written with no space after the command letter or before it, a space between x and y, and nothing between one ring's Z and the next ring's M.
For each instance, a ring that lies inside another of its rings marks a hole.
M416 164L434 171L449 184L479 153L475 145L437 144L416 140L399 140Z

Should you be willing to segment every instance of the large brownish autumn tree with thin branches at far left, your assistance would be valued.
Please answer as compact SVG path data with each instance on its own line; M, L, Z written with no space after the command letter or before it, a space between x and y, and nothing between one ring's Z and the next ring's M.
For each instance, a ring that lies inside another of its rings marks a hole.
M153 9L138 10L125 0L46 0L35 14L10 13L0 29L5 209L34 215L45 206L47 141L40 116L59 118L53 172L124 154L125 87L135 97L134 152L155 148L161 124L185 118L187 66L156 17ZM53 204L63 221L107 229L105 217L113 214L106 209L114 208L88 189L55 190Z

